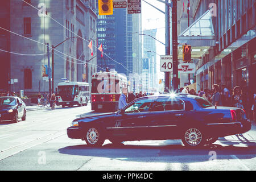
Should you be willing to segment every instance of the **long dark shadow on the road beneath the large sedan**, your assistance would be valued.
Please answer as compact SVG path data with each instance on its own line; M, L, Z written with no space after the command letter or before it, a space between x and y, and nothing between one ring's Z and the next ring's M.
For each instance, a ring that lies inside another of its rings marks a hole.
M168 140L167 140L168 141ZM168 142L167 142L168 143ZM190 156L191 161L199 162L199 160L207 161L210 158L210 152L214 151L217 155L221 155L221 159L230 159L230 155L239 155L240 159L252 159L256 156L256 145L248 145L246 147L234 146L238 142L230 142L228 146L221 144L210 144L196 148L189 148L183 144L163 144L159 145L138 145L138 144L112 144L108 143L101 147L89 147L86 144L67 146L60 148L61 154L94 156L102 158L129 158L127 160L142 161L144 158L151 157L170 157L179 158L180 156ZM199 160L195 160L193 156L200 156ZM141 158L141 159L139 159ZM163 160L159 159L159 160Z

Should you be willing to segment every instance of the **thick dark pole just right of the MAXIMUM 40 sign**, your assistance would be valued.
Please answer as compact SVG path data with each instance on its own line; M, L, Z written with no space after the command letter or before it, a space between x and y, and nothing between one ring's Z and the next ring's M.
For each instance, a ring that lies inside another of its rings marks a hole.
M178 89L178 42L177 42L177 0L172 0L172 91L177 92Z

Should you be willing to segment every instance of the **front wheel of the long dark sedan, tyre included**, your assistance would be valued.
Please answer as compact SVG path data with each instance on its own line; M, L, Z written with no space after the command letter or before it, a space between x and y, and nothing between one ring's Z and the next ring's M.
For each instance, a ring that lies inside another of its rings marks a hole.
M88 146L102 146L105 139L98 127L89 127L86 131L85 141Z

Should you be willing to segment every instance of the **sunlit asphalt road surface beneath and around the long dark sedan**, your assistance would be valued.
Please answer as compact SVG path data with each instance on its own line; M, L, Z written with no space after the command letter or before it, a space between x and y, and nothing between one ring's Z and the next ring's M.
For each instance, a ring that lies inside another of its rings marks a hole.
M240 136L219 138L210 146L189 149L180 140L147 140L90 148L69 139L74 118L93 113L90 105L39 109L27 120L0 122L0 170L15 171L254 171L256 126Z

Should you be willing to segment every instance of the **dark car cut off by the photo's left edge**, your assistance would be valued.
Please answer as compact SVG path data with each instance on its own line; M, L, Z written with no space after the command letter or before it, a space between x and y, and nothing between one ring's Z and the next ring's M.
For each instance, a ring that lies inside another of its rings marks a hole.
M26 104L19 97L0 97L0 121L25 121L26 115Z

